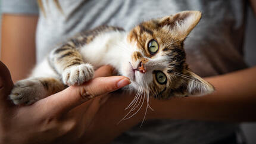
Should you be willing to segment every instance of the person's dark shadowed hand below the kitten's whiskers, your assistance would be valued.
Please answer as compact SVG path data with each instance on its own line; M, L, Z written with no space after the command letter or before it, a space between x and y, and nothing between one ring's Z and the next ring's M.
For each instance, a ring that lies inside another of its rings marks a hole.
M80 143L110 143L123 132L126 132L137 124L141 124L145 114L146 101L137 114L128 120L120 121L130 111L130 109L125 108L133 100L135 94L125 92L108 94L111 96L107 102L102 104L96 113ZM148 119L148 114L151 112L148 109L145 120Z

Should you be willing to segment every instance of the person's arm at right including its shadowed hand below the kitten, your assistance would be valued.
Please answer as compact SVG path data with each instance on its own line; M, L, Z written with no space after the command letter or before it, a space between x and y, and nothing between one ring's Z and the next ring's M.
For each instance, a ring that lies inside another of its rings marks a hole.
M256 67L253 67L205 78L216 87L216 92L211 95L168 100L151 98L149 104L154 111L148 109L145 118L146 120L256 121L255 73ZM146 103L132 118L117 124L129 112L129 109L124 110L124 108L132 99L133 95L111 96L90 124L85 142L109 143L121 133L140 124L145 114Z

